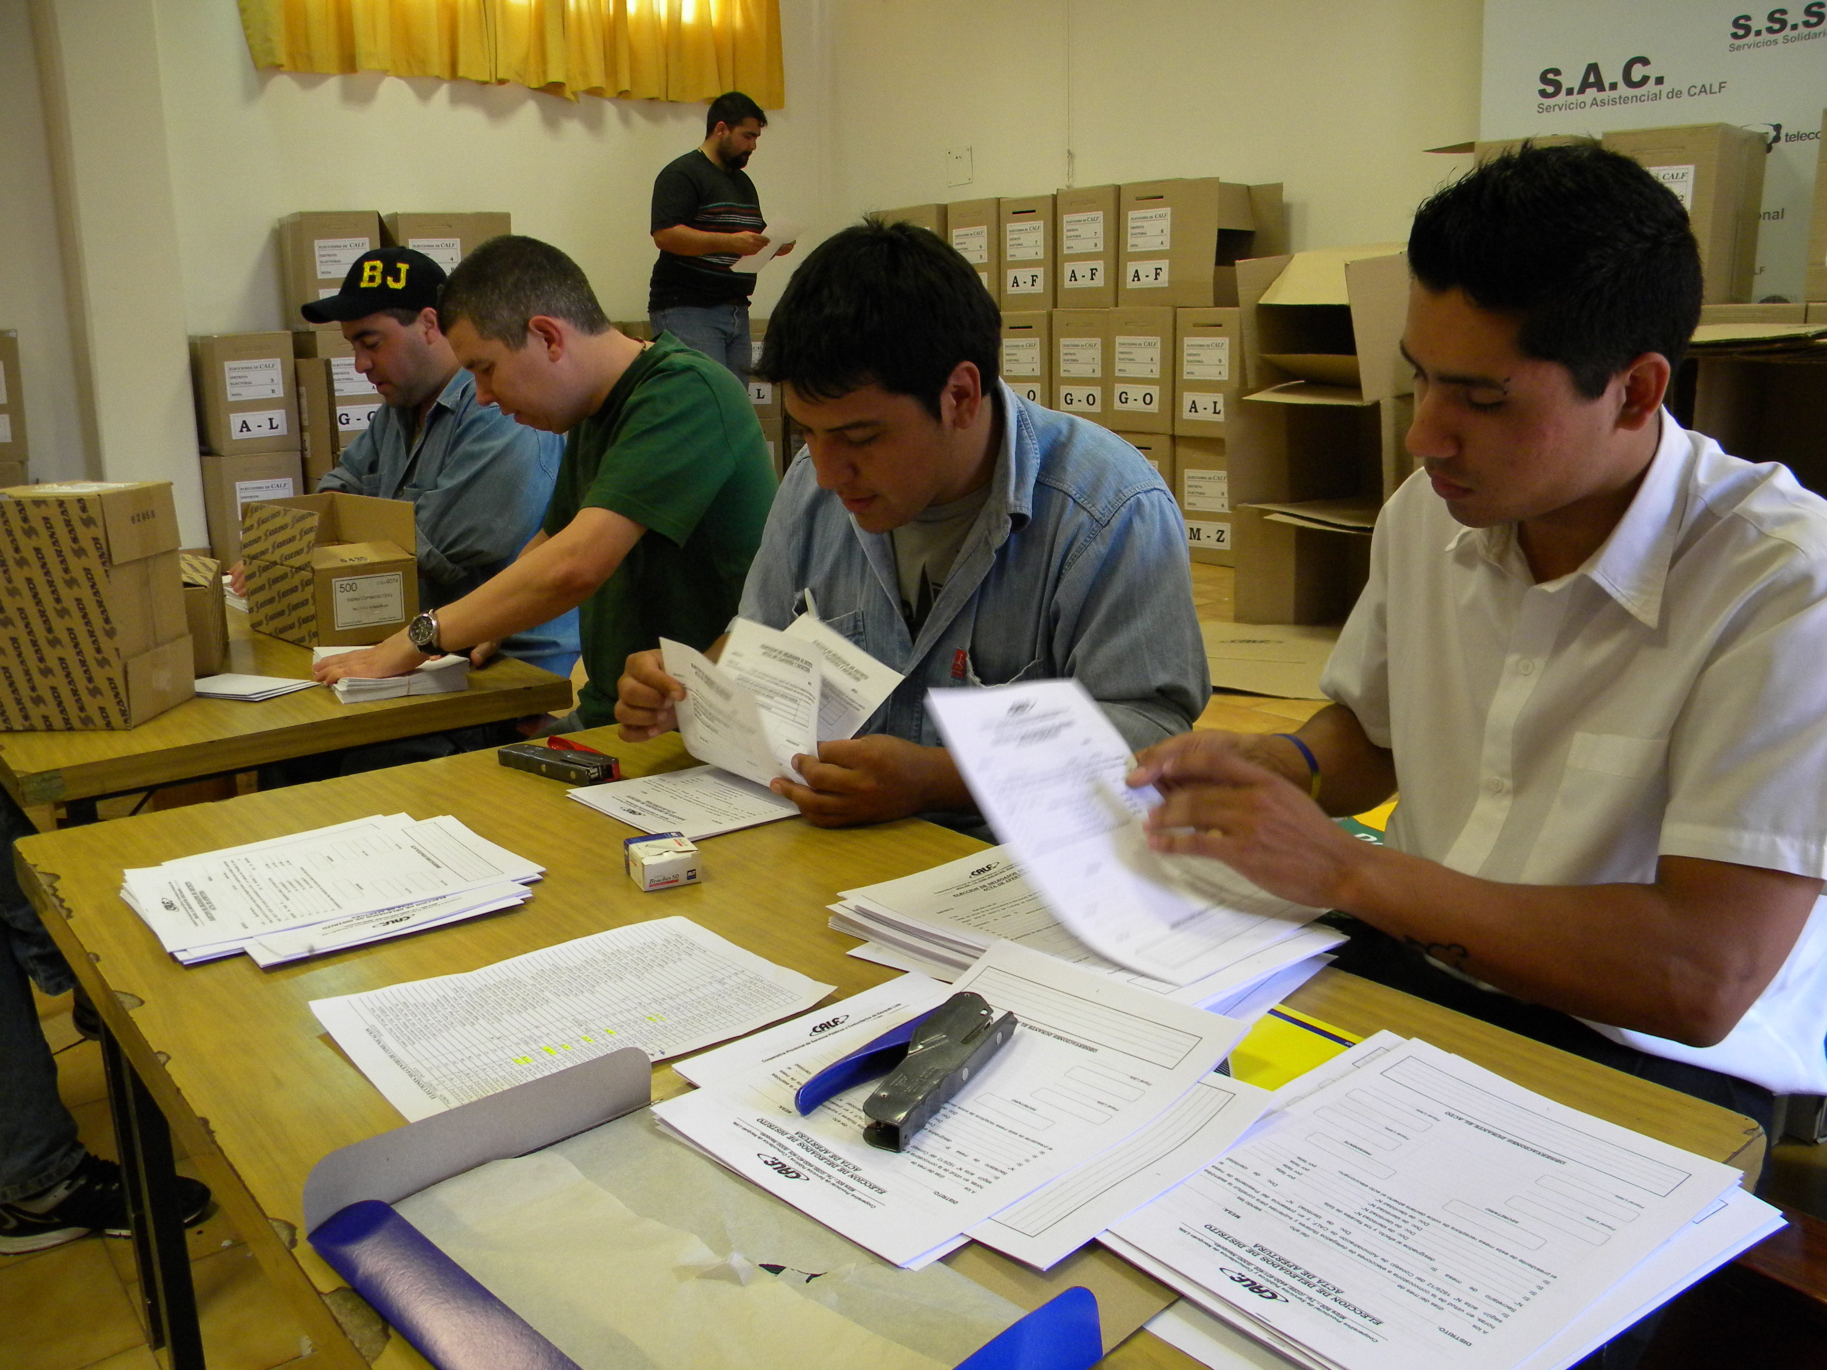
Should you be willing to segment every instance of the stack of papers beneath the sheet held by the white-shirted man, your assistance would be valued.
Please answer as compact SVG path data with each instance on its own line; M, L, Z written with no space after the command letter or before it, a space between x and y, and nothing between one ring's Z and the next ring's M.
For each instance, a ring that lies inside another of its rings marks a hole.
M1076 966L1113 975L1175 1003L1253 1021L1294 994L1345 941L1332 928L1275 922L1281 941L1248 952L1191 985L1175 986L1105 961L1047 910L1003 848L934 866L899 880L846 890L831 904L831 928L866 939L851 955L934 979L957 979L998 941L1019 943Z

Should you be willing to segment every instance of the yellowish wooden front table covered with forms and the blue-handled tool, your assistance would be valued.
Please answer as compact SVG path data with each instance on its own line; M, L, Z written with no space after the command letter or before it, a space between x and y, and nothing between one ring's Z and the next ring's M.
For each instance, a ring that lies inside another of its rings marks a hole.
M639 747L616 742L608 729L583 736L619 754L628 775L687 760L676 734ZM309 804L300 802L305 795ZM703 884L643 895L621 869L628 829L565 795L552 780L473 753L18 844L24 888L329 1366L360 1370L364 1359L323 1302L342 1279L307 1244L289 1240L301 1222L305 1175L325 1153L398 1127L400 1116L323 1034L311 999L475 970L672 913L837 985L842 997L893 972L844 955L853 941L826 926L831 897L981 846L915 820L844 831L787 820L709 838ZM179 966L119 899L128 866L395 811L451 813L546 866L546 879L517 912L274 970L247 957ZM133 996L135 1006L124 1008L108 990ZM1390 1027L1427 1038L1529 1089L1716 1160L1761 1158L1761 1133L1747 1118L1352 975L1323 972L1292 1003L1354 1032ZM671 1067L654 1072L656 1098L683 1087ZM382 1365L422 1361L393 1339ZM1107 1365L1193 1366L1149 1335L1131 1337Z

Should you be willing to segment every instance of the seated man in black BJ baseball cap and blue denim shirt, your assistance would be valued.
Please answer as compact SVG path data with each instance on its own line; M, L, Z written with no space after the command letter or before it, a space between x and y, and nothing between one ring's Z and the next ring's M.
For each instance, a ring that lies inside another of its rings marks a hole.
M557 435L477 402L475 378L438 329L444 269L424 252L384 247L356 258L342 290L300 309L311 323L342 325L354 369L385 402L318 490L413 502L426 610L462 599L519 555L539 532L565 451ZM470 658L481 665L495 648L482 643ZM577 614L504 638L499 650L568 676L577 661ZM296 784L517 740L510 720L311 756L269 767L261 778L263 785Z

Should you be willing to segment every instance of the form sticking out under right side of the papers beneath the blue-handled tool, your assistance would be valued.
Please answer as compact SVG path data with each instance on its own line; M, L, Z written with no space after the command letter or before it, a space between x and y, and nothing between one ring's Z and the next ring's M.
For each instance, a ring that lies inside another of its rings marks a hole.
M1041 1186L968 1235L1049 1270L1222 1156L1272 1098L1242 1080L1209 1074L1127 1142Z

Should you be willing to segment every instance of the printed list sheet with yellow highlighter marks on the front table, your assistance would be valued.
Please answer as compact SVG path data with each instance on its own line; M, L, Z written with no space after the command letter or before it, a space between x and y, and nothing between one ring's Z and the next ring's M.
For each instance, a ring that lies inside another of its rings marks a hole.
M621 1047L663 1061L738 1038L831 988L672 917L460 975L314 999L311 1012L418 1122Z

